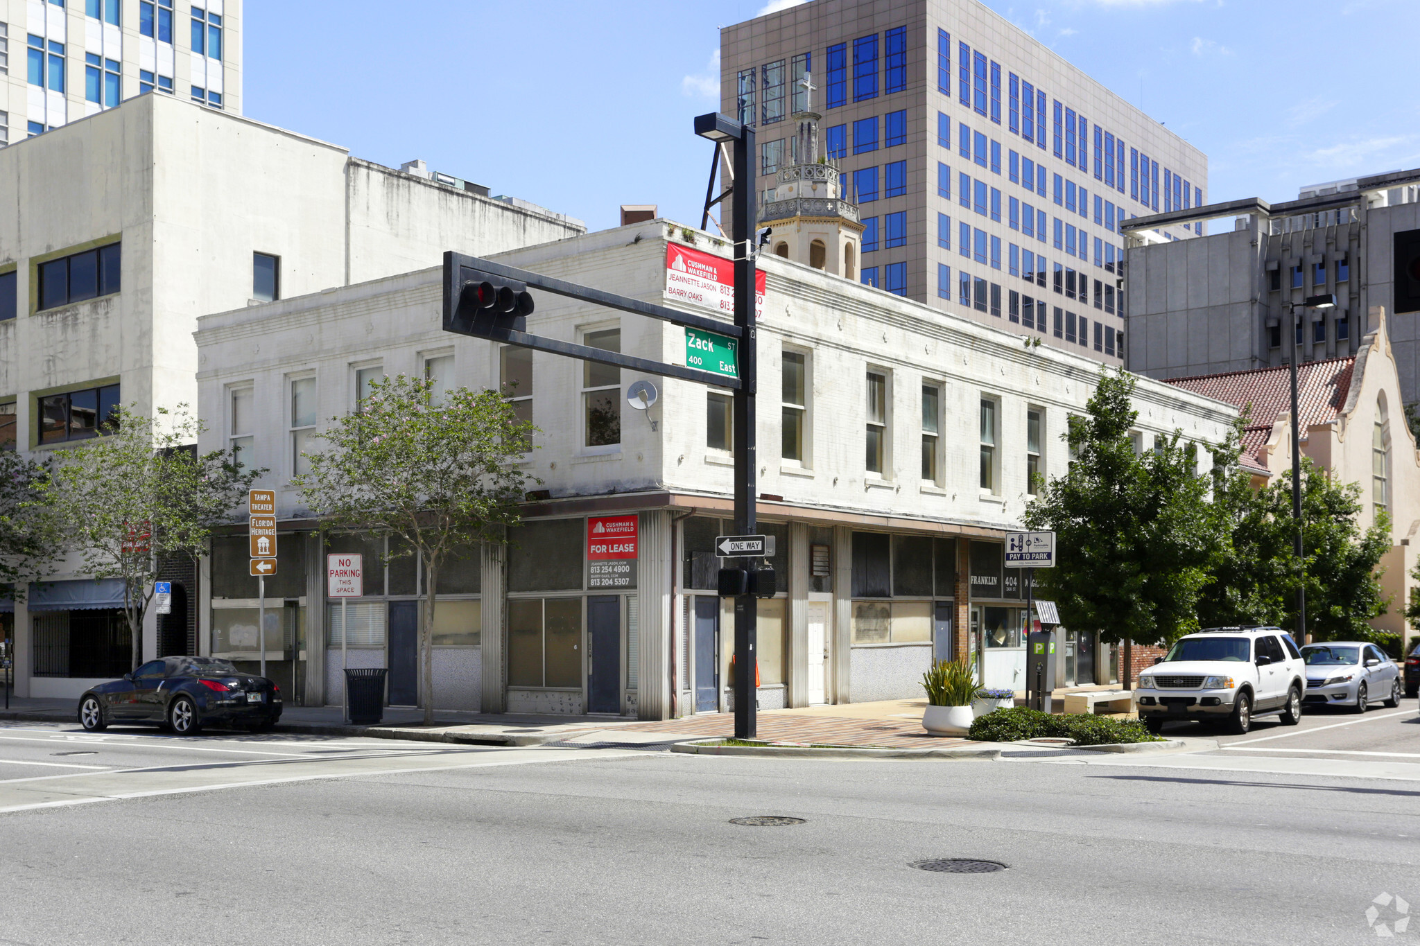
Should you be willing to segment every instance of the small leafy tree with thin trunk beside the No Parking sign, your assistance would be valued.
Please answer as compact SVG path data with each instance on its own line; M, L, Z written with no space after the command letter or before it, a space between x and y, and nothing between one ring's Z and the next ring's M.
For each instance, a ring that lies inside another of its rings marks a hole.
M335 417L327 450L293 481L327 528L400 539L417 555L425 599L419 628L425 722L433 722L433 628L439 569L460 546L500 543L518 522L528 482L518 467L535 428L497 391L452 389L398 374L373 382L356 413ZM393 545L393 543L392 543Z

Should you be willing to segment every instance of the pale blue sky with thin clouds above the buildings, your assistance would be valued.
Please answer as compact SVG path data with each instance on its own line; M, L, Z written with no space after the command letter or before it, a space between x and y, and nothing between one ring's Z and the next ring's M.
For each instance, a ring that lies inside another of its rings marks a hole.
M247 0L244 111L594 230L623 203L699 224L717 27L765 3ZM1207 153L1210 201L1420 166L1417 0L987 6Z

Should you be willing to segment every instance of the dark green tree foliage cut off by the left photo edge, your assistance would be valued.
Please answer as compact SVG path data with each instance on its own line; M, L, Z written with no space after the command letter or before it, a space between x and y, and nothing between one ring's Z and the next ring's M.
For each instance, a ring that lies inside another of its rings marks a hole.
M43 501L50 462L0 450L0 599L21 599L54 569L58 530Z

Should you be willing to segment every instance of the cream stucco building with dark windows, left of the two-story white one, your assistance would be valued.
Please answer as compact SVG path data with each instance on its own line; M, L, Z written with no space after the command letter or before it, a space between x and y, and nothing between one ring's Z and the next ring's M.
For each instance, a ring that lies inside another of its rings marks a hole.
M119 403L196 406L199 315L433 265L447 248L585 231L422 163L382 167L159 94L0 149L0 448L40 457L97 435ZM112 655L128 645L115 644L126 641L115 591L84 577L65 563L14 611L30 668L21 695L77 695L84 679L116 675ZM195 647L196 577L168 577L187 607L151 621L149 655ZM36 624L41 611L53 617ZM9 603L0 628L9 635Z

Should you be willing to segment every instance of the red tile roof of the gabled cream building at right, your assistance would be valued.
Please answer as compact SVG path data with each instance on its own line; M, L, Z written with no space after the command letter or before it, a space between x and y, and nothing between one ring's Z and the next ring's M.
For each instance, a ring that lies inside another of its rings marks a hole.
M1346 396L1350 393L1350 376L1355 367L1355 357L1332 357L1296 366L1298 416L1304 437L1308 427L1329 424L1340 414L1346 406ZM1242 434L1242 461L1267 468L1267 464L1258 457L1258 450L1267 444L1278 416L1291 411L1292 407L1292 382L1288 366L1228 372L1225 374L1200 374L1197 377L1170 377L1164 383L1235 404L1240 408L1251 406L1252 410Z

